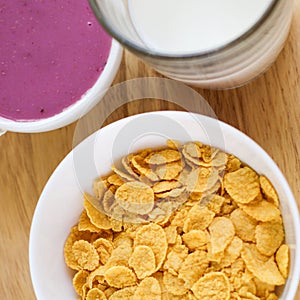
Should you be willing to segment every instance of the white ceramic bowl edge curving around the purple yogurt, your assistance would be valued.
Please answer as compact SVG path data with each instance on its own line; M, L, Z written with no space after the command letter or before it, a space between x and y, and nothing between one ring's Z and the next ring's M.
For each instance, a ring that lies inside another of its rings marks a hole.
M110 87L121 63L122 49L122 46L113 39L107 63L96 83L73 105L57 115L36 121L22 122L0 117L0 135L5 131L26 133L50 131L79 119L101 100L105 91Z

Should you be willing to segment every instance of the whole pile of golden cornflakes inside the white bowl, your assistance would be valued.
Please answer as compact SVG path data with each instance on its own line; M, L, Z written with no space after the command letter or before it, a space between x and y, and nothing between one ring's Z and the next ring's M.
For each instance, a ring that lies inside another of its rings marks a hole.
M81 300L278 299L278 195L234 155L169 140L121 158L93 193L64 245Z

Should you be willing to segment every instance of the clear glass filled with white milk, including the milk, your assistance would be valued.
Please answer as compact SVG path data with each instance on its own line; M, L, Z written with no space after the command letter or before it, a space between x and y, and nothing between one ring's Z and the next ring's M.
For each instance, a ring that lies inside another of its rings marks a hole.
M293 0L89 0L102 26L167 77L211 89L245 84L276 59Z

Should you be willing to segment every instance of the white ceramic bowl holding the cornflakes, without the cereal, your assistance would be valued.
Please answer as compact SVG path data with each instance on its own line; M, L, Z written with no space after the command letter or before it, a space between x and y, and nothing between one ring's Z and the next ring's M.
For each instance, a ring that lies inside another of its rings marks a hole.
M63 247L70 228L83 209L83 191L110 170L113 161L143 147L199 140L232 153L276 187L291 249L291 268L280 299L294 298L300 270L299 213L292 192L270 156L253 140L218 120L186 112L154 112L112 123L79 144L57 167L44 188L32 221L29 262L39 300L77 299L71 273L64 263Z

